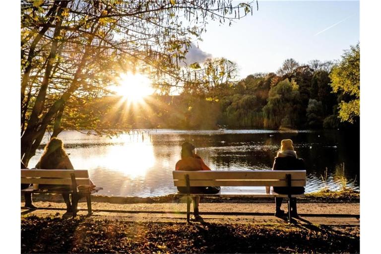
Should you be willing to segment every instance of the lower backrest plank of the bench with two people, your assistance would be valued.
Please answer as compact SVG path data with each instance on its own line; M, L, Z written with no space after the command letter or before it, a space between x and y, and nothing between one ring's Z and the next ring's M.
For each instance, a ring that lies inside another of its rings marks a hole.
M176 187L186 187L185 180L174 181ZM191 187L207 187L207 186L275 186L275 187L287 187L287 181L285 180L193 180L190 181ZM304 187L306 186L306 180L292 180L292 187Z

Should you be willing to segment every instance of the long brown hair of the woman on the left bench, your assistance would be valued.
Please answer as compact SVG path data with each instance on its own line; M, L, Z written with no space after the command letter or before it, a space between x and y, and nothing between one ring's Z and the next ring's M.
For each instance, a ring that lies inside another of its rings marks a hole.
M62 140L53 137L46 144L44 153L38 162L40 169L56 169L62 158L67 157Z

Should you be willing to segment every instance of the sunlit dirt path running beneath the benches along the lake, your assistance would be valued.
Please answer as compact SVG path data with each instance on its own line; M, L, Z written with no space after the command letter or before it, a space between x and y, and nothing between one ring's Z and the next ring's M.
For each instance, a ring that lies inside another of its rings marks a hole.
M23 204L21 203L21 206ZM37 201L37 210L21 209L21 215L33 214L41 217L64 215L64 203ZM85 202L80 202L78 215L87 214ZM186 222L185 203L137 203L113 204L92 202L94 219L111 219L135 222ZM284 210L287 205L283 204ZM191 208L192 210L192 208ZM216 223L287 223L285 218L273 215L271 203L200 203L201 222ZM359 203L300 203L300 224L360 226ZM57 214L58 213L58 214Z

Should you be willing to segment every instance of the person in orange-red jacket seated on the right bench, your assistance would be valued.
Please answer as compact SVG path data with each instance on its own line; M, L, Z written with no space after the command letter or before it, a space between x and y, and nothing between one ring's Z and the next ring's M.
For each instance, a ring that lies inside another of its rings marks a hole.
M199 170L210 170L208 166L205 165L200 156L196 154L196 148L189 142L182 144L181 149L181 160L176 163L175 170L181 171L199 171ZM187 193L187 187L178 187L178 191L182 193ZM202 194L216 194L220 191L220 187L191 187L191 193L202 193ZM192 197L193 201L193 213L194 217L199 217L198 215L198 203L200 197Z

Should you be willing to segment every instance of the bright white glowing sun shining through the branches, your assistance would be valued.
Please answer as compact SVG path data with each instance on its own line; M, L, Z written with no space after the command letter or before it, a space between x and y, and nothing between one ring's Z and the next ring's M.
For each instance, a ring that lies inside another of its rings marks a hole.
M119 86L116 86L113 90L129 102L141 102L144 97L154 92L151 86L151 80L140 73L121 73L118 78L118 83Z

